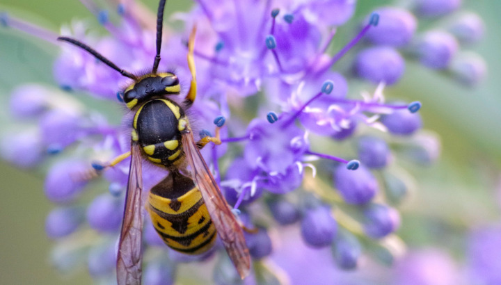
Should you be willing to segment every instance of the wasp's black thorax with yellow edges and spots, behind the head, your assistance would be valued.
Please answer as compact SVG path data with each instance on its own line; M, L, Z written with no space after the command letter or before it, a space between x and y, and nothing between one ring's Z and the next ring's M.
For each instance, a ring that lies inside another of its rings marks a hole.
M138 109L134 129L148 159L164 166L176 165L182 158L179 120L184 112L169 99L153 99Z

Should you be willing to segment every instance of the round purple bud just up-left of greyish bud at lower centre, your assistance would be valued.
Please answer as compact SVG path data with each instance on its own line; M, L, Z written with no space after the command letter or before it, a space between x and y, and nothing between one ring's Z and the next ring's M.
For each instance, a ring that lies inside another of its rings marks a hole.
M318 206L308 209L301 220L301 236L312 247L326 247L333 243L337 231L331 209L328 206Z

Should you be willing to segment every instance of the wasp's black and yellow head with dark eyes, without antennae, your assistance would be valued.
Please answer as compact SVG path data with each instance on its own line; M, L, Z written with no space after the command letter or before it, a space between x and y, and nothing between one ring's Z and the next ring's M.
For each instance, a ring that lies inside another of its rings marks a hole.
M172 73L147 74L124 91L127 107L134 108L139 102L169 94L179 94L179 79Z

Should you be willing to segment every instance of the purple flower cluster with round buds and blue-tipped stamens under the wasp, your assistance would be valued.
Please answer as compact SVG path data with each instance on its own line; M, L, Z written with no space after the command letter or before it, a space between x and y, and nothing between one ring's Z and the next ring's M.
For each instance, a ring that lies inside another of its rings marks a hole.
M86 42L124 70L150 68L155 32L143 26L132 6L120 4L120 22L114 23L92 1L82 2L109 35L95 37L81 22L61 34ZM223 144L205 147L202 154L228 203L239 210L235 213L241 212L248 227L259 229L246 234L255 282L286 277L269 261L278 266L287 262L273 254L272 234L287 225L296 224L301 242L309 247L331 247L340 268L356 268L365 252L388 263L401 253L403 246L394 234L400 223L395 206L414 182L399 159L432 163L440 142L420 131L419 101L386 102L384 88L401 79L405 57L468 84L477 83L486 72L479 56L458 54L463 45L482 37L482 21L471 13L450 15L459 1L436 2L415 0L410 10L377 8L351 39L335 38L335 33L349 20L357 21L352 19L356 1L199 0L188 13L173 16L184 22L186 31L168 33L159 70L175 67L182 92L187 92L191 76L186 38L196 24L198 97L189 110L190 120L203 137L225 118ZM437 28L416 33L420 18L436 19ZM50 42L56 38L11 15L2 14L0 22ZM333 38L346 44L333 52ZM347 53L356 54L352 68L336 71L335 63ZM360 82L356 79L375 83L374 92L350 93L349 86ZM79 197L90 188L90 161L109 161L129 150L132 114L125 114L121 124L112 123L71 92L123 104L118 90L130 82L67 44L61 44L54 63L54 80L61 90L38 85L14 90L11 112L38 127L8 136L1 153L23 168L56 157L45 181L47 198L58 204L47 216L47 235L75 246L56 247L54 261L69 269L78 255L87 258L93 277L113 279L129 159L104 172L109 193L88 205ZM166 175L152 165L145 169L146 190ZM153 252L152 247L163 252L146 259L146 284L173 282L178 263L212 255L193 258L168 250L149 221L143 234L145 254ZM86 254L80 254L82 250ZM237 272L226 270L228 266L231 263L221 257L216 282L237 282Z

